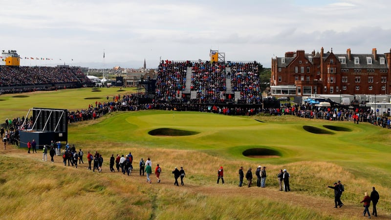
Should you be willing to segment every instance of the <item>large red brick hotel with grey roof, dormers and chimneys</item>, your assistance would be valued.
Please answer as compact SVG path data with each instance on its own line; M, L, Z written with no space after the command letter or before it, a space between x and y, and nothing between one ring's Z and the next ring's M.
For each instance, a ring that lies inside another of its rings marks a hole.
M390 52L346 54L286 52L272 58L272 95L390 94Z

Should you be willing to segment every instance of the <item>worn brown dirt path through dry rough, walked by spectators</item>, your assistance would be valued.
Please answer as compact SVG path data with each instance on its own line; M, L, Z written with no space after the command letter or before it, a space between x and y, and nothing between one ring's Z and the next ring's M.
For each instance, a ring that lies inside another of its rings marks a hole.
M23 156L30 156L33 158L36 158L37 160L42 160L42 150L37 150L37 154L27 154L27 149L25 149L25 152L22 152L20 150L11 148L11 146L8 147L7 150L0 150L1 154L13 154L13 156L16 157L23 157ZM47 163L50 163L50 155L48 155L48 161ZM61 156L56 156L54 159L54 165L56 166L62 166L64 167L63 158ZM85 163L79 165L80 169L85 169L88 166L87 158L85 159ZM108 175L109 168L104 167L102 174ZM111 174L111 173L110 173ZM155 184L154 183L154 176L152 176L152 181L154 186L159 187L172 187L173 189L177 189L176 186L173 185L173 177L170 174L169 180L163 180L161 183ZM167 176L164 175L166 178ZM145 176L138 176L137 174L133 174L132 179L133 181L145 181ZM168 178L168 177L167 177ZM179 187L182 188L182 187ZM313 196L307 196L303 194L296 193L294 191L291 192L281 192L276 188L266 187L266 188L259 188L259 187L246 187L243 186L239 188L238 186L233 185L208 185L208 186L198 186L193 185L191 183L186 183L186 185L183 187L186 190L190 190L195 193L205 194L205 195L224 195L229 197L235 197L235 196L245 196L246 198L260 198L264 197L273 201L278 201L282 203L289 203L292 206L302 206L309 209L314 209L315 211L321 210L321 212L325 213L326 215L330 215L333 218L339 219L339 218L346 218L346 219L366 219L362 216L363 213L363 207L361 203L350 203L344 201L344 206L342 208L334 208L334 200L332 198L321 198L321 197L313 197ZM183 189L182 188L182 189ZM343 199L342 199L343 200ZM371 211L371 207L369 209ZM378 219L378 220L390 220L390 215L379 215L377 218L373 217L372 219Z

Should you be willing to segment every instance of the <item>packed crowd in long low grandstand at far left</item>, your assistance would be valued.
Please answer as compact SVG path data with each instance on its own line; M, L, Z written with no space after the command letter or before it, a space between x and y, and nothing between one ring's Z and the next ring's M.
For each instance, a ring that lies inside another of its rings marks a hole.
M0 76L2 87L90 82L77 67L0 66Z

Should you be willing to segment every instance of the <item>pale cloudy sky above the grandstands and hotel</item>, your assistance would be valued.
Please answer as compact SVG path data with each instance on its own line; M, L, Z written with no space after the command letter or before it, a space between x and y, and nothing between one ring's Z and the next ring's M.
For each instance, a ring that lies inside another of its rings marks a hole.
M160 59L208 60L213 49L270 67L298 49L390 52L390 8L390 0L7 1L0 50L17 50L21 66L139 68L145 59L156 68Z

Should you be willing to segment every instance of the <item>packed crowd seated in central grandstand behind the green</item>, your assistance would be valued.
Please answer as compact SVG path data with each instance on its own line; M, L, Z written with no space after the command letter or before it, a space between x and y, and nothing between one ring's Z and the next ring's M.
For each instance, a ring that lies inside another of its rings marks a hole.
M173 62L162 61L158 66L155 102L183 102L186 90L187 68L191 68L190 90L196 92L192 103L221 103L232 100L226 96L227 79L231 79L231 90L239 91L235 97L242 104L260 104L261 90L258 64L235 62ZM231 71L227 72L230 68ZM232 96L232 95L231 95Z

